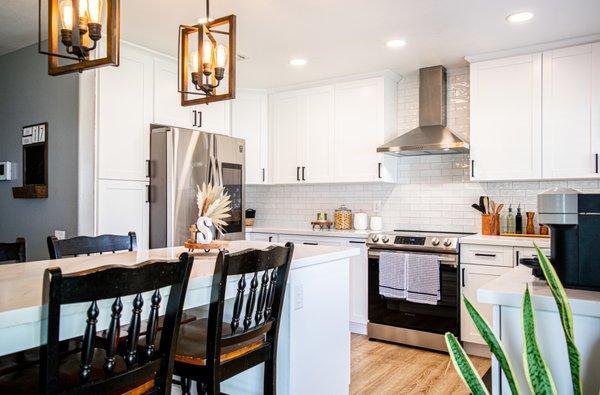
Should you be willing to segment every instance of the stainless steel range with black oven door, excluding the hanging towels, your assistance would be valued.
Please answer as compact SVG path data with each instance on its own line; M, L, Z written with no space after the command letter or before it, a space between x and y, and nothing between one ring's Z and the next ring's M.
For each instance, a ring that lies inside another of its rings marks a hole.
M465 234L420 231L369 235L369 338L446 351L444 333L459 336L460 332L458 239L462 236ZM384 251L434 255L439 259L440 300L436 305L379 294L379 256Z

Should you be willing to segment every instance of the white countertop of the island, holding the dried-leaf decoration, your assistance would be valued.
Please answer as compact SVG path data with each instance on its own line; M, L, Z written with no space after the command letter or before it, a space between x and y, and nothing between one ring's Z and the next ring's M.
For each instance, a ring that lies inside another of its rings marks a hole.
M231 241L226 248L235 252L248 248L266 248L271 244L240 240ZM183 247L173 247L0 265L0 328L11 324L6 319L6 313L41 305L42 278L46 268L58 266L63 273L72 273L103 265L134 265L149 259L177 259L185 251ZM217 253L213 250L210 253L194 254L188 289L195 283L210 284ZM292 270L358 254L357 248L295 245Z

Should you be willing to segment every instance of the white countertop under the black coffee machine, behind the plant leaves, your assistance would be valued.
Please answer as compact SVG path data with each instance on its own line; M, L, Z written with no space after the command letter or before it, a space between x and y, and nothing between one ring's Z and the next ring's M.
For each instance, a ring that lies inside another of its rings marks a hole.
M521 307L525 287L529 285L536 309L557 311L550 287L531 274L531 269L517 266L506 274L483 285L477 300L500 306ZM573 314L600 317L600 292L566 289Z

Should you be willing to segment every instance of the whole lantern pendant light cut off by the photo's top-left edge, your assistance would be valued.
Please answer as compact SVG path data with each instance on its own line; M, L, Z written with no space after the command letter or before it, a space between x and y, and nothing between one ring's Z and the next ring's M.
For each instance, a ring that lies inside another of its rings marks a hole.
M48 56L49 75L119 65L120 0L47 0L47 50L42 49L42 1L38 0L38 52ZM104 15L106 56L100 57ZM71 62L61 64L60 59Z

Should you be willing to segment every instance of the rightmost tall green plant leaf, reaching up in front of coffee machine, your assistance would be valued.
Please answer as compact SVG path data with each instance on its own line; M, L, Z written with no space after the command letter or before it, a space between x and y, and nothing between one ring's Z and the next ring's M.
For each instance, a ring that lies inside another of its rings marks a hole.
M581 383L581 356L577 346L575 345L575 333L573 330L573 313L571 311L571 305L569 299L565 293L565 289L554 270L554 266L550 263L550 260L544 255L542 250L535 245L535 249L538 254L538 260L546 281L552 290L552 296L556 302L558 308L558 314L560 315L560 321L562 323L563 332L565 333L565 340L567 343L567 353L569 354L569 365L571 367L571 382L573 384L573 393L575 395L581 395L583 393L583 386Z

